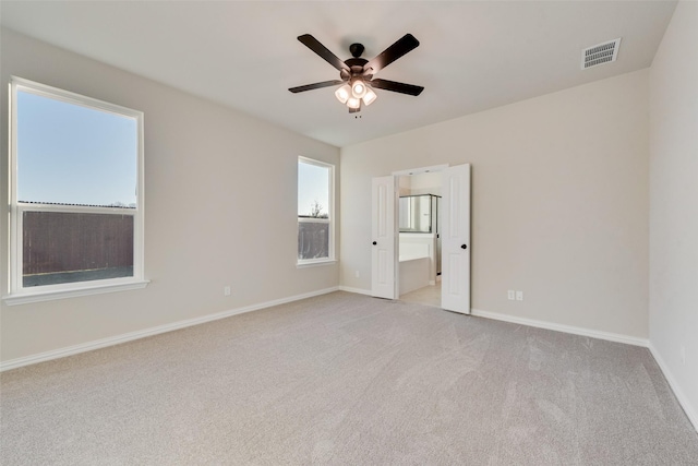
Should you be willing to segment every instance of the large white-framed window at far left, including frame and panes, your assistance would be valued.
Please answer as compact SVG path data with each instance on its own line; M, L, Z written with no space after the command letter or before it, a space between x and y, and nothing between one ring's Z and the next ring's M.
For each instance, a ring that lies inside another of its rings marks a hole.
M143 113L13 77L9 303L143 280Z

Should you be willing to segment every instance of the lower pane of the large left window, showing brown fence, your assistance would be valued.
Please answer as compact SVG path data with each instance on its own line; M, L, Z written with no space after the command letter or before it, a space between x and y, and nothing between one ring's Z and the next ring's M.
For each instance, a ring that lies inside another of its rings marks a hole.
M24 212L23 286L133 276L133 216Z

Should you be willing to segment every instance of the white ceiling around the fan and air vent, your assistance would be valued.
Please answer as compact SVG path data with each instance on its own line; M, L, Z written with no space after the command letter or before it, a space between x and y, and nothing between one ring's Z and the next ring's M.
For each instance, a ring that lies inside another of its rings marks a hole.
M540 96L651 64L675 1L2 1L4 27L345 146ZM371 59L406 33L420 46L377 77L422 85L377 91L354 118L338 79L297 40ZM622 37L616 62L580 69L581 50Z

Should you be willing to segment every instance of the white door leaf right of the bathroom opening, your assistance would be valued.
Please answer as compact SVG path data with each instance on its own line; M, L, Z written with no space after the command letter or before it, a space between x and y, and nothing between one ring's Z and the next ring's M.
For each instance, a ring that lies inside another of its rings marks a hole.
M442 171L443 309L470 313L470 164Z

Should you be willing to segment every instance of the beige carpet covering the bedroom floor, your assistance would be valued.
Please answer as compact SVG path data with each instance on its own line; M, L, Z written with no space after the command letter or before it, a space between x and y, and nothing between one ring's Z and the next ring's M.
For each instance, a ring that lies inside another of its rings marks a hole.
M696 465L643 348L335 292L1 375L3 465Z

